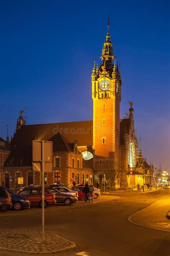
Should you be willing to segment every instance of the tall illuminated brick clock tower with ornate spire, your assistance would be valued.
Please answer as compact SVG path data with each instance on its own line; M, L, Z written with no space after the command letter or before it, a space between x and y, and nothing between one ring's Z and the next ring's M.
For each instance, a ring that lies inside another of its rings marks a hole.
M94 63L91 75L93 98L94 183L107 172L120 168L121 73L115 65L113 45L108 32L102 48L102 64ZM109 183L108 179L108 183Z

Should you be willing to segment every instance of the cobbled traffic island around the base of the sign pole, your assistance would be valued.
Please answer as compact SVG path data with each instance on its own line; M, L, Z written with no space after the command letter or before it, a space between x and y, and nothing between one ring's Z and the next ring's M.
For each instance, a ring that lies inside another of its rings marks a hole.
M55 232L45 232L45 242L41 242L42 232L35 229L12 228L1 230L0 249L21 253L57 253L76 247L70 240Z

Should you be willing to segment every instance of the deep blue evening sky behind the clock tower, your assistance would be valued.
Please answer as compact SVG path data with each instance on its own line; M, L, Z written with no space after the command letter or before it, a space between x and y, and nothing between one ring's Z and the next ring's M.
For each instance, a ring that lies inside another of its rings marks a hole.
M142 155L170 171L169 1L0 1L0 136L92 120L91 72L107 33L121 62L121 118L134 108Z

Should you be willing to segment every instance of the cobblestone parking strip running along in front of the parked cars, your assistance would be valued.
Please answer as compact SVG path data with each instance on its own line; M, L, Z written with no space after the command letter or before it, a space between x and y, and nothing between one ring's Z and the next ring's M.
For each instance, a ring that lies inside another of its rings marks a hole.
M109 200L118 199L120 197L117 196L100 196L97 199L94 199L95 203L105 202ZM77 208L77 207L86 207L88 204L84 202L84 200L79 200L77 203L72 204L71 206L65 206L65 205L54 205L54 206L48 206L45 208L46 212L54 212L54 211L60 211L63 209L69 209L71 208ZM21 211L14 211L14 210L3 210L0 211L0 217L3 216L15 216L15 215L28 215L28 214L41 214L42 210L40 207L31 207L30 209L21 210Z

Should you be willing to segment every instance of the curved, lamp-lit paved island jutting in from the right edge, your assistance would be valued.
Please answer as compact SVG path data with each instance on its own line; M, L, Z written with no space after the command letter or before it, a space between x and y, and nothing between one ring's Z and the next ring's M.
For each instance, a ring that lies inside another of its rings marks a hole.
M169 211L170 194L130 216L128 220L133 224L170 232L170 220L166 217Z

